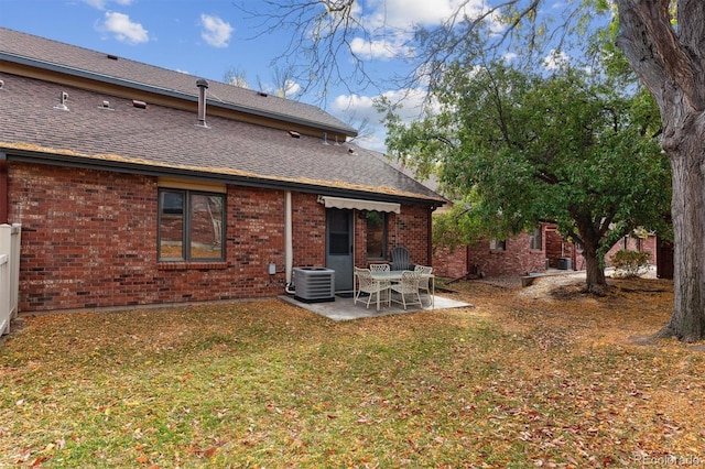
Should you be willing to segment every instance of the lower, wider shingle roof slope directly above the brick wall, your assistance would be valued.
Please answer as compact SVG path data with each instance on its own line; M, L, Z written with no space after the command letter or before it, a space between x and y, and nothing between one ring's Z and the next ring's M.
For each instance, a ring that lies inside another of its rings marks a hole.
M402 174L379 153L321 139L148 105L0 73L0 151L62 155L67 163L154 167L307 190L343 190L360 198L401 198L438 205L443 198ZM69 111L54 107L62 91ZM112 110L104 109L108 100ZM352 150L352 153L350 153Z

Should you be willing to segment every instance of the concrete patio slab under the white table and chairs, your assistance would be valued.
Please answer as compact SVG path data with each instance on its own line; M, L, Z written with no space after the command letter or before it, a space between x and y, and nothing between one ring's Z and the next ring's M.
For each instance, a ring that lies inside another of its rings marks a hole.
M294 306L299 306L304 309L308 309L310 312L319 314L321 316L325 316L333 320L352 320L352 319L361 319L366 317L380 317L388 316L392 314L408 314L408 313L417 313L420 310L431 310L432 307L429 305L429 297L423 297L424 306L420 308L417 305L409 306L405 310L401 305L392 303L391 306L381 306L380 310L377 310L375 304L370 304L369 308L365 307L365 303L358 302L357 305L352 304L352 298L341 298L339 296L335 297L335 302L323 302L323 303L304 303L297 299L294 299L293 296L280 296L280 298L286 303L290 303ZM473 307L469 303L458 302L451 298L445 298L443 296L435 295L434 296L434 306L433 309L447 309L447 308L467 308Z

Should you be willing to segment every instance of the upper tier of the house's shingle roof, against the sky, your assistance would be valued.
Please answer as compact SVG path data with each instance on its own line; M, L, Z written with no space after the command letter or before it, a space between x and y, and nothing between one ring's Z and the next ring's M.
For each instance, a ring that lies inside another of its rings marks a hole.
M0 28L0 59L61 69L75 76L118 80L123 86L151 87L166 94L197 96L193 75ZM245 112L303 122L354 137L357 131L324 110L276 96L209 80L209 105L234 106Z

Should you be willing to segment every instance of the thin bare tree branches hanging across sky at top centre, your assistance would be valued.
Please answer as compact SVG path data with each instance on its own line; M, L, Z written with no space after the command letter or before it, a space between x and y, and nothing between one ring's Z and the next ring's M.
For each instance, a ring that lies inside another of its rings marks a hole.
M436 26L400 26L386 15L380 15L382 24L379 19L372 21L356 0L239 0L237 4L246 19L258 21L252 39L281 30L292 33L272 62L291 67L302 92L315 90L321 100L333 86L343 86L349 94L433 87L453 61L469 64L477 57L505 54L511 44L523 61L534 61L545 47L562 47L566 32L584 18L574 3L565 8L563 18L551 17L555 13L542 10L543 6L544 0L503 0L481 7L465 0ZM549 29L547 23L556 20ZM412 72L381 83L370 65L373 52L382 50L404 61Z

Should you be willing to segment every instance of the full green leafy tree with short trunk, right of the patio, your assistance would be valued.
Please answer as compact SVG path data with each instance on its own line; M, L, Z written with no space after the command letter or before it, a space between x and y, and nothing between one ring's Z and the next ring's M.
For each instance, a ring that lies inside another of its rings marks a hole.
M408 164L435 166L452 198L471 195L449 216L460 229L501 238L554 221L584 246L588 288L603 285L612 243L639 226L660 227L670 173L658 141L644 134L654 119L643 112L648 97L596 77L455 63L434 89L438 112L409 126L388 118L388 148ZM590 265L599 272L589 275Z

